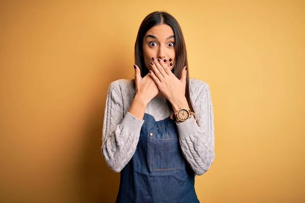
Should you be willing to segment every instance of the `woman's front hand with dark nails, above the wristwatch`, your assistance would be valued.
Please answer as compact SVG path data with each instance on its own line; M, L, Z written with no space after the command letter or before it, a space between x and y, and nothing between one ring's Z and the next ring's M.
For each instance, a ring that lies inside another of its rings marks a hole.
M179 80L163 60L151 61L150 65L153 69L153 72L149 71L151 78L153 78L161 93L170 101L174 111L178 111L180 107L189 108L185 97L187 66L183 69Z

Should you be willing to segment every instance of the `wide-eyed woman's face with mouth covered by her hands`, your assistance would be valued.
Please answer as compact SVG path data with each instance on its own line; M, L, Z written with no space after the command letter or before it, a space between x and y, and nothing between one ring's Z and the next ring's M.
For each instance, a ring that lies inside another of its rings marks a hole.
M162 60L166 59L166 64L170 64L168 61L170 58L173 60L172 66L169 66L170 70L175 65L175 36L172 28L167 24L160 24L151 27L145 34L143 39L143 57L144 62L148 70L151 69L151 58L155 57L157 62L158 58Z

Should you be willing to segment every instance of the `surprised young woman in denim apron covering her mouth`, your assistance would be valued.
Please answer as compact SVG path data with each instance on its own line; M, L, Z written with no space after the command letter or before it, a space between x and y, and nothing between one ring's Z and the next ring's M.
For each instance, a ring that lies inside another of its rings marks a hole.
M209 86L190 79L181 28L166 12L142 21L135 80L110 84L102 154L120 172L116 202L199 202L195 176L214 161Z

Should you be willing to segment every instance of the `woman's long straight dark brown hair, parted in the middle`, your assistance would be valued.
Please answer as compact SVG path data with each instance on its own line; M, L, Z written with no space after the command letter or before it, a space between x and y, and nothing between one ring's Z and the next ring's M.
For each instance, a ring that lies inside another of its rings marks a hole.
M143 38L146 34L146 32L153 26L159 25L159 24L167 24L169 25L175 35L175 65L172 69L172 73L180 80L181 73L185 66L188 66L188 58L187 58L187 49L185 40L182 34L181 27L177 20L166 12L153 12L148 14L144 20L142 21L136 43L135 43L135 64L140 68L141 71L141 77L143 78L148 74L148 69L145 66L144 58L143 58ZM190 110L194 112L194 108L191 102L190 98L190 79L189 79L189 67L187 69L187 79L186 79L186 90L185 90L185 96L188 100L188 104L190 107ZM133 83L135 85L135 79L133 80ZM168 99L166 99L168 108L173 112L173 108L171 103ZM196 112L194 112L196 113Z

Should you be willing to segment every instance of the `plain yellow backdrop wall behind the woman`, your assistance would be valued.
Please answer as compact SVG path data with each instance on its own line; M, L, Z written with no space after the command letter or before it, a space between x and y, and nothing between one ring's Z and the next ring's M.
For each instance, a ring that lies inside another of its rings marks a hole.
M101 154L109 84L134 76L143 18L179 22L209 84L215 162L201 202L304 202L304 1L2 1L0 201L114 202Z

